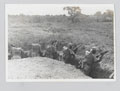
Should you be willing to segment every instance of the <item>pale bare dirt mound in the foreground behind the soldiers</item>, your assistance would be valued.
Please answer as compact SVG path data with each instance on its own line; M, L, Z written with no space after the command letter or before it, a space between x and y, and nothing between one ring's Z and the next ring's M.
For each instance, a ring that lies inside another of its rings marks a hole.
M64 62L34 57L8 60L8 79L91 79Z

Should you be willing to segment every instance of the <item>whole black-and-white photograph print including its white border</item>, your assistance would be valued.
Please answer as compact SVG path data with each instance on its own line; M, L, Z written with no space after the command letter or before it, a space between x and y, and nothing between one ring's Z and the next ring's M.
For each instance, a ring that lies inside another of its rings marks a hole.
M114 4L6 4L6 80L115 80L114 16Z

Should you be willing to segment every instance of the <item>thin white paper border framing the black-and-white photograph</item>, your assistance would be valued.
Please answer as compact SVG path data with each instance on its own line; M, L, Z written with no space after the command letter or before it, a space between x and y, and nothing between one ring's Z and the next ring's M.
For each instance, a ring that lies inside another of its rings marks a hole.
M115 35L115 6L114 4L105 4L113 5L114 10L114 79L8 79L8 11L7 5L5 4L5 68L6 68L6 82L115 82L116 81L116 35ZM12 5L12 4L10 4ZM21 4L22 5L22 4ZM25 4L24 4L25 5ZM28 4L26 4L28 5ZM30 4L29 4L30 5ZM36 4L34 4L36 5ZM41 4L39 4L41 5ZM87 4L42 4L42 5L87 5ZM89 4L88 4L89 5ZM91 5L91 4L90 4ZM93 4L96 5L96 4ZM104 4L99 4L104 5Z

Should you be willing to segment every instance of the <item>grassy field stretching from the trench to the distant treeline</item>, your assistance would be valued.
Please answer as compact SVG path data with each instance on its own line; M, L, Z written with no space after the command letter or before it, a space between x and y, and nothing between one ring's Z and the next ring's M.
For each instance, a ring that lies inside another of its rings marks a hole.
M8 43L20 46L24 50L28 50L31 43L48 42L53 39L82 43L86 49L98 46L109 52L100 63L102 70L94 71L95 77L108 78L114 70L112 22L97 22L86 18L71 23L67 16L9 16L8 33ZM85 50L79 49L79 52L81 51Z

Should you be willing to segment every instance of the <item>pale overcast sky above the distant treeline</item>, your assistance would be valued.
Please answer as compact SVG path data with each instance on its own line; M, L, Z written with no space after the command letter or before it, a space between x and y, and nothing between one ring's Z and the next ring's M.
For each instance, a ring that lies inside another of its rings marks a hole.
M10 15L60 15L67 14L63 10L65 6L79 6L82 13L86 15L95 14L97 11L102 13L106 10L114 10L112 4L6 4L6 13Z

